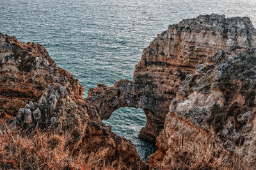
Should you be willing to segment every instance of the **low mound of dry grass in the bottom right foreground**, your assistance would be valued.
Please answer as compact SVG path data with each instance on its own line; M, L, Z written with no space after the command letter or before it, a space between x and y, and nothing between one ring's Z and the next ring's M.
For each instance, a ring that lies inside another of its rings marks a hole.
M167 169L250 169L220 146L211 144L193 149L183 146L174 154L175 159L169 160L165 166Z

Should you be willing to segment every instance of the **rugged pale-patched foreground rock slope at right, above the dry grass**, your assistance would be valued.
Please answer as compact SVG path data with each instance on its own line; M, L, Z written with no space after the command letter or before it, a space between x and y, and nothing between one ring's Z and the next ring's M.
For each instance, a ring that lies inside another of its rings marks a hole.
M186 76L170 105L164 131L157 138L159 150L165 158L175 159L170 150L179 147L181 140L195 141L200 134L198 141L213 138L255 167L255 88L256 48L228 55L225 61L201 64ZM161 165L166 164L163 157Z

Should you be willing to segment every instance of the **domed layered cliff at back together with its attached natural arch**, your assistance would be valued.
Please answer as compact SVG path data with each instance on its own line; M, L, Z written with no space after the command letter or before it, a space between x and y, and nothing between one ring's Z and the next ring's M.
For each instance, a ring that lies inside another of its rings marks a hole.
M109 118L120 107L143 108L147 125L140 138L154 143L164 127L169 105L186 75L196 65L213 63L223 57L256 45L256 32L249 18L202 15L170 25L143 50L133 81L117 81L115 87L100 85L88 92L101 117ZM122 84L122 85L121 85Z

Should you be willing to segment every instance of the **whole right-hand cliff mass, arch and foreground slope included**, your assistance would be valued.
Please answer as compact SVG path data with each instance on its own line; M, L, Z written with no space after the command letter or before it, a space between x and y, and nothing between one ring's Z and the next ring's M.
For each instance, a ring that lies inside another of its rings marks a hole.
M164 128L150 168L253 167L255 46L249 18L182 20L143 50L133 81L100 84L89 90L88 102L102 119L120 107L143 108L147 125L140 138L150 142Z

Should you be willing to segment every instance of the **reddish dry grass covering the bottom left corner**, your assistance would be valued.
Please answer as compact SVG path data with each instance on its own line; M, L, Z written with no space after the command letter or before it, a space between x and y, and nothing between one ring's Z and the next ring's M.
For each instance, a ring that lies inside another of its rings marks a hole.
M0 169L122 169L115 162L106 164L108 148L72 155L65 134L49 136L38 129L28 134L4 120L0 128Z

